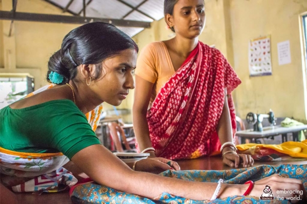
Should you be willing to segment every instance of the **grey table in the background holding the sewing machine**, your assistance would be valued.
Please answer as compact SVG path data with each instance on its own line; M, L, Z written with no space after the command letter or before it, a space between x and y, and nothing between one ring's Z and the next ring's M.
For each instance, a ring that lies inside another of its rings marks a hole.
M288 141L288 133L292 133L293 141L298 141L298 133L302 130L307 130L307 125L298 125L292 127L282 127L281 125L264 127L263 131L253 131L253 129L238 131L235 133L240 138L250 139L251 142L257 143L259 138L274 137L277 135L282 136L282 142ZM242 140L244 142L244 140Z

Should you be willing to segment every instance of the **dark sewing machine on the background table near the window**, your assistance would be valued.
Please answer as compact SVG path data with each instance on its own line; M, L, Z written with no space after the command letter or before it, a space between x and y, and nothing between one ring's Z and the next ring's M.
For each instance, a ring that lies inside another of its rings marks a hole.
M255 114L249 112L246 116L246 121L249 124L254 125L254 131L262 132L263 131L262 121L264 120L264 118L268 118L272 126L276 124L274 113L272 110L270 110L268 114Z

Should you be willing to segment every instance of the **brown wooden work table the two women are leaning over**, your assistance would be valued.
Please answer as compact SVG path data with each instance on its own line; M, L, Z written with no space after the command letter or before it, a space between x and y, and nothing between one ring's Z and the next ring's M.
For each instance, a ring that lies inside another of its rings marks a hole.
M179 160L177 163L180 165L181 170L227 170L232 169L222 163L220 156L216 157L204 157L193 160ZM295 161L295 162L255 162L254 166L258 165L280 165L280 164L307 164L305 161ZM32 204L32 203L43 203L43 204L71 204L68 191L59 193L43 193L41 195L31 194L31 193L16 193L19 203ZM1 202L0 202L1 203Z

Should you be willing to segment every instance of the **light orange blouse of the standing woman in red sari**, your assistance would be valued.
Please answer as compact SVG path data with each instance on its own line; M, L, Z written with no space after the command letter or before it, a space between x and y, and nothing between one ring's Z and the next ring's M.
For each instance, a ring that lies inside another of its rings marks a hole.
M162 41L152 42L142 49L135 73L143 80L155 84L150 97L151 103L175 72L167 47Z

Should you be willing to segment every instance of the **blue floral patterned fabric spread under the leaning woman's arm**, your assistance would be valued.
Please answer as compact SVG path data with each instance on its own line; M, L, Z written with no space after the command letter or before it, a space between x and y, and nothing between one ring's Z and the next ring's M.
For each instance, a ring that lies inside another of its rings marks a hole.
M198 182L218 182L223 179L228 184L244 184L248 180L258 181L264 177L279 173L281 176L299 179L307 189L307 165L261 165L251 168L232 170L187 170L173 171L167 170L161 173L166 177ZM264 186L265 188L265 186ZM260 196L260 195L259 195ZM73 203L290 203L287 200L260 200L254 196L230 196L224 199L192 200L162 193L160 196L148 199L138 195L125 193L116 189L101 186L95 183L83 184L76 187L71 194Z

